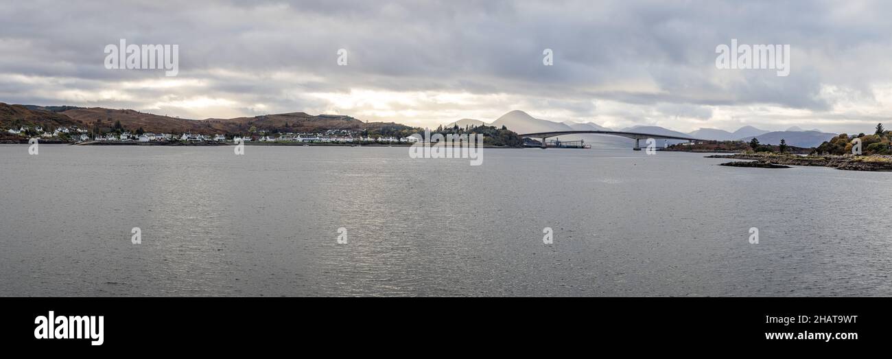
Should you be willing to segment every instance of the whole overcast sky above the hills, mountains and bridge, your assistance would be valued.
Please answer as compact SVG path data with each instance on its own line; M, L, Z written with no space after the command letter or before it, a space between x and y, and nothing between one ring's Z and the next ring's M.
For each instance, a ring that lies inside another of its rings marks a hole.
M178 45L178 76L107 70L120 38ZM731 38L789 45L789 76L717 69ZM0 6L0 53L9 104L415 126L516 109L615 129L892 125L888 1L29 0Z

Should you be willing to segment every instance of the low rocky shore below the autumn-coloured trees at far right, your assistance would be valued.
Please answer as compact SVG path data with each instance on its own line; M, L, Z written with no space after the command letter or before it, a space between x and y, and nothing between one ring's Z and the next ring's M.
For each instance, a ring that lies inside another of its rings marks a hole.
M706 158L732 158L793 166L822 166L845 171L892 171L890 155L795 155L795 154L714 154ZM725 164L723 165L731 165Z

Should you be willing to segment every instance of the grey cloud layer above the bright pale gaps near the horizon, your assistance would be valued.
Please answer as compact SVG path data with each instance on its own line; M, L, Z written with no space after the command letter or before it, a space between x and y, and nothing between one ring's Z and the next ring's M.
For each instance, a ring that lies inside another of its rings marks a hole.
M233 99L248 113L257 111L254 103L301 111L325 104L294 93L370 88L508 94L580 117L597 115L591 101L599 99L698 119L712 115L706 105L828 112L833 99L820 96L822 87L873 98L872 85L892 80L889 14L892 4L872 1L18 2L0 9L0 48L15 50L0 58L0 74L74 80L0 79L0 101L58 104L37 94L163 78L103 68L103 46L127 38L178 44L180 78L207 87L130 88L138 99L112 101L115 107L145 108L175 95ZM797 54L790 76L744 71L723 82L714 48L731 38L790 44ZM350 52L348 66L335 63L341 47ZM554 66L541 64L544 48L554 51ZM308 79L260 76L277 71ZM623 88L636 81L657 88Z

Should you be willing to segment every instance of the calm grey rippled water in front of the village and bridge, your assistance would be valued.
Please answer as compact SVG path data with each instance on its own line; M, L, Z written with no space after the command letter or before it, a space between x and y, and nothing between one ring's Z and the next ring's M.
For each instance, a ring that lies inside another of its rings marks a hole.
M628 149L485 149L481 166L245 152L0 146L0 295L892 296L892 173Z

